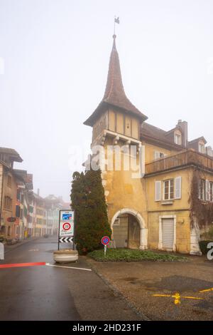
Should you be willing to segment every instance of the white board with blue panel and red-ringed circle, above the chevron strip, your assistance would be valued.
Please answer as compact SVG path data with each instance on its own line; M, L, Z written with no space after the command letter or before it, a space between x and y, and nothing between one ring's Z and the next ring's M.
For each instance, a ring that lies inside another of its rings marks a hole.
M74 236L74 211L60 210L59 218L59 237Z

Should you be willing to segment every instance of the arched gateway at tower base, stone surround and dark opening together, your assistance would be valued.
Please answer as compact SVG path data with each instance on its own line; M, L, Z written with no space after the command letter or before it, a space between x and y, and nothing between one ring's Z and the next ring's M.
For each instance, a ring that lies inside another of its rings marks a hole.
M136 210L123 208L116 212L111 219L111 230L116 247L147 249L148 230L143 217Z

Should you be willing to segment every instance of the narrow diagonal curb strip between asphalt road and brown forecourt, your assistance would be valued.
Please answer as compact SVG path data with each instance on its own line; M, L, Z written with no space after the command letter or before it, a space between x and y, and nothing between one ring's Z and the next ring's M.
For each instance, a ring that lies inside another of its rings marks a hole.
M97 270L97 268L95 267L94 264L92 264L92 262L89 262L90 259L88 259L88 257L85 257L86 262L89 263L89 266L93 269L93 271L103 280L103 282L105 284L107 284L107 286L114 292L114 294L116 295L116 297L120 297L122 300L124 300L126 302L126 305L129 306L130 309L132 309L136 314L138 314L138 316L141 317L141 321L151 321L151 319L148 319L148 317L146 315L144 315L143 313L141 313L141 311L138 311L138 309L136 308L136 306L134 304L132 304L129 299L127 299L124 294L121 293L121 291L119 291L119 289L117 289L113 284L111 284L111 282L109 282L109 280L107 278L105 278L103 276L103 274L101 272L99 272L99 270Z

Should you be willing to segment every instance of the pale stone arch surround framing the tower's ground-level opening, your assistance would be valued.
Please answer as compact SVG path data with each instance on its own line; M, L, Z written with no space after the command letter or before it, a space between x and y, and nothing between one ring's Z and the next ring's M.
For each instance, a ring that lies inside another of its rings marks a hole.
M132 210L131 208L123 208L122 210L119 210L118 212L116 212L114 214L114 216L111 219L111 230L112 230L112 234L113 234L113 225L115 220L117 219L117 217L119 217L120 215L123 214L130 214L133 215L134 217L136 217L136 220L138 222L138 224L140 225L140 249L144 250L147 249L147 233L148 230L146 228L146 224L145 224L145 220L143 219L143 217L141 216L141 214L139 212L137 212L136 210Z

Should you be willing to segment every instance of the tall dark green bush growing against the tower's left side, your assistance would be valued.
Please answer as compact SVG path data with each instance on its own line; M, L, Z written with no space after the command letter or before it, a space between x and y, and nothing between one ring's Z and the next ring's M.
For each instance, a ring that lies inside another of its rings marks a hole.
M104 235L111 237L101 170L73 174L72 207L75 210L75 242L80 253L101 246Z

